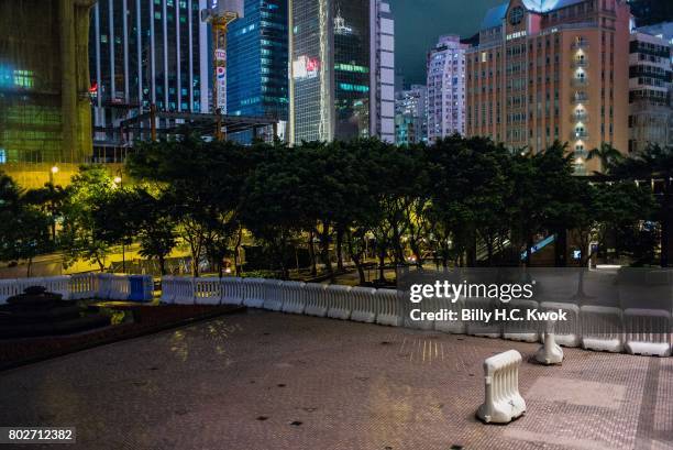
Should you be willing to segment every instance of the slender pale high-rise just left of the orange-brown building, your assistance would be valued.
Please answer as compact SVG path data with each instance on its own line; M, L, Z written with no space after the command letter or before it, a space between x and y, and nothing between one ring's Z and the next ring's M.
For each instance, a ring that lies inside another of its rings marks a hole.
M465 133L465 50L445 35L428 53L428 140Z

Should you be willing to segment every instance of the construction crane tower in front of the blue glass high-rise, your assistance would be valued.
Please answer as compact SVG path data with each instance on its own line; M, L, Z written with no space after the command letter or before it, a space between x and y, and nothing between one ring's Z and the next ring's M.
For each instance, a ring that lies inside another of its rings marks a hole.
M227 30L234 20L243 17L243 0L214 0L212 8L201 11L201 21L212 28L212 103L220 117L227 113ZM221 120L218 121L216 138L223 140Z

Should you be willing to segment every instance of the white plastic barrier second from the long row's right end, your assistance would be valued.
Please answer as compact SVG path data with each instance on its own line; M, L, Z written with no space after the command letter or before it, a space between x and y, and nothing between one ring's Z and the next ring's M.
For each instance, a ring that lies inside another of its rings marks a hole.
M624 350L621 309L610 306L583 306L582 347L619 353Z

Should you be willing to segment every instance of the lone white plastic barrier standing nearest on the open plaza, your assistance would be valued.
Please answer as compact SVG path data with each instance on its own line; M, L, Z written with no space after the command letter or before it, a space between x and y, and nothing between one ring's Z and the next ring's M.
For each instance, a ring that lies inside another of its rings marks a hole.
M484 361L484 403L477 416L486 424L508 424L526 413L519 394L521 354L516 350L498 353Z

